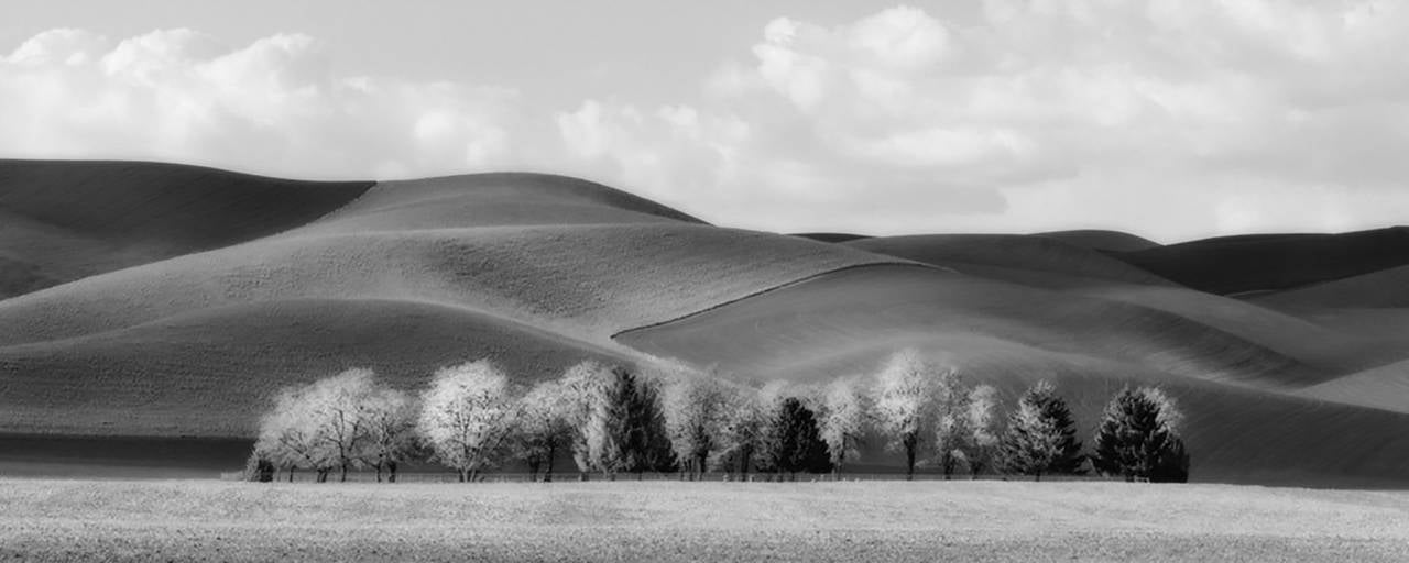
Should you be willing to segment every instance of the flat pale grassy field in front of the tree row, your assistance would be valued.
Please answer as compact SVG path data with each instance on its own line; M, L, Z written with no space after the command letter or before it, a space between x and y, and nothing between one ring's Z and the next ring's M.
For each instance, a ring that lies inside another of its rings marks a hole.
M0 560L1403 560L1409 493L0 480Z

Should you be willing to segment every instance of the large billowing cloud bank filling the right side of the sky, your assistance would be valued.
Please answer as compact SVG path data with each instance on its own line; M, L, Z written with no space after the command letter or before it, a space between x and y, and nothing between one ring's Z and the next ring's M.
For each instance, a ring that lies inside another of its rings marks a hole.
M559 125L602 176L775 229L1355 228L1409 218L1379 210L1409 210L1406 48L1389 1L898 7L768 23L689 125L606 101Z

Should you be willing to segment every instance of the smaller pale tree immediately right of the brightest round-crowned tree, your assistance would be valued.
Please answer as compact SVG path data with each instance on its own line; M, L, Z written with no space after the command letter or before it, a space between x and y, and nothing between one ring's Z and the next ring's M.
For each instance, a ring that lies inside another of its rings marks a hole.
M572 397L561 380L541 381L519 400L514 453L528 464L530 479L552 481L552 462L572 442Z

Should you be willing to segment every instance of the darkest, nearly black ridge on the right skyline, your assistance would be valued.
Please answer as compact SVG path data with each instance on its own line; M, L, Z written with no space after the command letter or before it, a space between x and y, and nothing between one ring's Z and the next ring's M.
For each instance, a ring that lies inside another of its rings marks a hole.
M1200 291L1278 291L1406 265L1409 228L1222 236L1112 256Z

